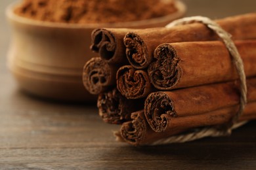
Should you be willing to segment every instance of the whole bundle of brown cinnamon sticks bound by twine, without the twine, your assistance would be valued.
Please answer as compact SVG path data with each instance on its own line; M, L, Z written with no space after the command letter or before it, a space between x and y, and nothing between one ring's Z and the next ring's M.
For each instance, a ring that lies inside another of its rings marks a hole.
M244 62L247 105L239 121L256 118L256 13L215 20ZM239 109L240 82L230 52L205 25L95 29L85 88L99 114L121 124L117 136L152 144L198 127L224 128Z

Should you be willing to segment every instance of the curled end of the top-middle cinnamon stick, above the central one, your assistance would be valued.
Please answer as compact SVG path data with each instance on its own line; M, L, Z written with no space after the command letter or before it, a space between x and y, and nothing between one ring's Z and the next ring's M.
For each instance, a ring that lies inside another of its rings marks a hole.
M136 33L127 33L123 42L129 63L136 69L148 67L152 59L148 57L148 48L140 36Z

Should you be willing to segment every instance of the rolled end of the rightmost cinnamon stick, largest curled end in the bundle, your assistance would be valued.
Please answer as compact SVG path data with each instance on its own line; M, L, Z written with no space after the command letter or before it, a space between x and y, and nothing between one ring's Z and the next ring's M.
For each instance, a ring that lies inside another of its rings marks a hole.
M155 88L171 90L179 82L182 71L179 67L181 59L170 44L161 44L154 51L154 59L148 67L148 76Z

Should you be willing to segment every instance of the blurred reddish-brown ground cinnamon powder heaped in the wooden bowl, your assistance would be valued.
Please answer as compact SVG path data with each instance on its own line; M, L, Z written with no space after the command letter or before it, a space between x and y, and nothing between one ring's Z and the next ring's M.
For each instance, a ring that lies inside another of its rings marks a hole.
M174 0L24 0L16 14L35 20L106 23L145 20L177 9Z

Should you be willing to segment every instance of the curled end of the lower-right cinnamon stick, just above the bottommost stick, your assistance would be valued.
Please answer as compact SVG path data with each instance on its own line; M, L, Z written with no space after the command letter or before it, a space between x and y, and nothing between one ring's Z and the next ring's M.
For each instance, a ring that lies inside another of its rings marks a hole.
M176 116L171 99L163 92L148 95L144 104L146 120L156 132L165 131L167 116Z

